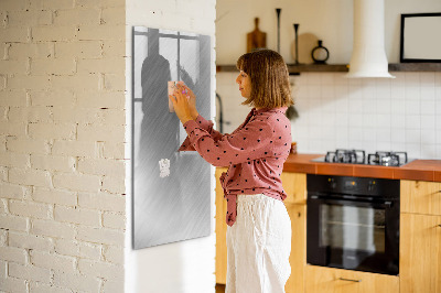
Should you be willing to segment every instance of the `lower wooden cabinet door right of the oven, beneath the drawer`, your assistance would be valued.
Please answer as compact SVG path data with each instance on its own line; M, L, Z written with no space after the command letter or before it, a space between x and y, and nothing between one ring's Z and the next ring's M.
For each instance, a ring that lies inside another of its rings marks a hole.
M441 293L441 216L401 214L400 293Z

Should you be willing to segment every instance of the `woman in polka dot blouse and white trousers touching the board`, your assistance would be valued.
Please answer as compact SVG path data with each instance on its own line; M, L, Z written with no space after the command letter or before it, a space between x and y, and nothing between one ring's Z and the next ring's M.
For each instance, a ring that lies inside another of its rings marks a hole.
M180 151L195 150L214 166L229 166L220 176L227 200L226 292L284 292L291 273L291 221L280 180L292 141L284 116L293 105L288 69L271 50L247 53L236 65L241 104L254 108L232 134L214 130L197 113L190 88L180 84L169 96L189 134Z

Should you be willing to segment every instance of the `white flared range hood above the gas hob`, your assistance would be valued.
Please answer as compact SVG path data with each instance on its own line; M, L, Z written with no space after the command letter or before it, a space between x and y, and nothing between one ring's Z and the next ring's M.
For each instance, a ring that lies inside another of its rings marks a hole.
M354 44L345 77L387 77L384 0L354 0Z

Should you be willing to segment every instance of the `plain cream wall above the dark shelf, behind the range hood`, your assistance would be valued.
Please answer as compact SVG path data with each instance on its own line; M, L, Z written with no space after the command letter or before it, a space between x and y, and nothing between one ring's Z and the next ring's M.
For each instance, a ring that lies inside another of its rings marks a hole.
M236 64L246 51L246 34L260 18L267 46L277 50L277 14L280 14L280 54L293 63L293 23L299 34L312 33L330 51L330 64L346 64L353 42L353 0L223 0L216 7L217 64ZM440 12L439 0L385 0L385 46L389 63L399 62L400 13ZM300 39L300 37L299 37ZM299 44L301 47L301 44ZM300 50L299 50L300 51Z

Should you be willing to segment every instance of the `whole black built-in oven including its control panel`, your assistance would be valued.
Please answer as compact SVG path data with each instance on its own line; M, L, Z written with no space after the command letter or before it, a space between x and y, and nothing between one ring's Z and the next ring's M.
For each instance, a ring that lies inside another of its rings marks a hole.
M398 275L397 180L306 176L306 262Z

